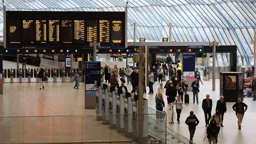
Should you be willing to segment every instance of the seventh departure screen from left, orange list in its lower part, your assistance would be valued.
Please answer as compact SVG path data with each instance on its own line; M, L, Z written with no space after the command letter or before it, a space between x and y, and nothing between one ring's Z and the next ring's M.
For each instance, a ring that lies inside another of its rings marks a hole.
M98 20L87 20L87 42L97 41Z

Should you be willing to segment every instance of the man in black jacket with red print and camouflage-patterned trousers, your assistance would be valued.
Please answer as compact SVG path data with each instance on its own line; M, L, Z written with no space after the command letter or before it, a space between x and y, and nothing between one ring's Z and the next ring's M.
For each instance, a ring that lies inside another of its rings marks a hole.
M244 109L245 107L245 109ZM236 111L237 123L239 130L241 129L241 123L244 118L244 112L247 110L247 105L241 101L241 98L237 99L237 102L233 105L233 110Z

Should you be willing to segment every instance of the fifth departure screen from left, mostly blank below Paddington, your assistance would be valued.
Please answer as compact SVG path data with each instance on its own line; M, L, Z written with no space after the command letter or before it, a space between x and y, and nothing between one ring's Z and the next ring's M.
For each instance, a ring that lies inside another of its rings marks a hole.
M63 44L73 42L72 20L61 20L61 39Z

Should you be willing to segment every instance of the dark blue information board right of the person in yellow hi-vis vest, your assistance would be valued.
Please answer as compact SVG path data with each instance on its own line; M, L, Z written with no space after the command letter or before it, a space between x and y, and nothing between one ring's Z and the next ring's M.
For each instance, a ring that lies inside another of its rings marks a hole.
M195 53L183 53L183 78L195 79Z

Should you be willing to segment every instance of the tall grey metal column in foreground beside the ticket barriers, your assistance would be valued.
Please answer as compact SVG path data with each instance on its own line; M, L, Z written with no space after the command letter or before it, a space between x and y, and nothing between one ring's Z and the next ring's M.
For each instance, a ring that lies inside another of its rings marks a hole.
M143 46L139 46L139 90L143 90L143 62L144 62L144 54L143 54ZM143 143L143 91L139 91L138 93L138 114L139 114L139 140L138 143Z

